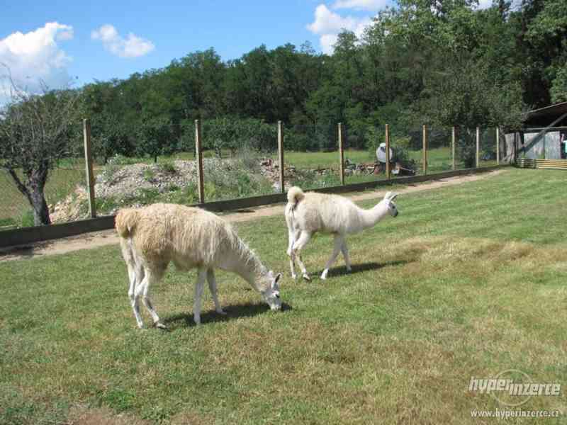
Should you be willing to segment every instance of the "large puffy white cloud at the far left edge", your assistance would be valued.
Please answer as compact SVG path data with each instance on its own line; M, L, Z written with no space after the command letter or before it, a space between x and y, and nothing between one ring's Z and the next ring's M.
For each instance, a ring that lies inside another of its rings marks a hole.
M0 39L0 105L9 99L9 81L30 93L69 85L67 65L72 61L57 42L71 40L73 27L48 22L29 33L16 32Z

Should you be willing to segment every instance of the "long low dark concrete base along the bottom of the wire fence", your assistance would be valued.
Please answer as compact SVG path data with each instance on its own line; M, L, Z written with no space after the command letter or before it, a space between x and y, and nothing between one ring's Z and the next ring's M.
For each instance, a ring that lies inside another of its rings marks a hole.
M486 171L493 171L508 165L491 166L478 169L464 169L447 171L438 174L428 174L425 176L400 177L391 180L369 181L366 183L354 183L345 186L332 186L328 188L313 189L313 192L321 193L345 193L365 191L368 189L378 188L381 186L391 186L392 184L408 184L420 183L424 181L433 181L439 179L447 179L448 177L463 176L466 174L477 174ZM284 203L287 201L286 193L273 193L271 195L252 196L250 198L240 198L231 200L216 200L213 202L199 203L191 205L193 207L203 208L205 210L220 212L230 210L240 210L242 208L258 207L261 205L270 205L276 203ZM114 227L114 216L107 215L103 217L91 218L88 220L78 220L75 222L61 223L58 225L23 227L21 229L4 230L0 232L0 248L8 246L18 246L33 244L35 242L43 242L50 239L60 239L63 237L76 236L89 232L99 232Z

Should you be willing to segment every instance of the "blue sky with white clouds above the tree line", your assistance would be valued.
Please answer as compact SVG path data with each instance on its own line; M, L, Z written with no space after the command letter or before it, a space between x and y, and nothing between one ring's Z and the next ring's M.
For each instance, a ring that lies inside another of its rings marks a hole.
M262 43L299 47L308 40L331 52L341 28L361 33L386 1L4 0L0 63L33 91L40 79L50 88L69 79L73 86L124 79L209 47L223 60Z

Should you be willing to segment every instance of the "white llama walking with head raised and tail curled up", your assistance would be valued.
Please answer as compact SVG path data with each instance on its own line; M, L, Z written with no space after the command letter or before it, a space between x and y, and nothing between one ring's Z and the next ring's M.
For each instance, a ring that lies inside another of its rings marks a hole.
M315 232L335 235L335 249L325 265L321 278L327 278L329 268L337 259L339 251L342 251L347 270L351 271L345 239L347 234L373 227L388 214L393 217L397 216L398 210L393 203L396 196L398 193L388 192L374 208L363 210L342 196L314 192L303 193L301 188L296 186L290 188L286 205L286 222L289 233L287 254L290 257L291 276L296 278L295 261L297 259L303 278L310 280L303 261L301 261L301 249Z

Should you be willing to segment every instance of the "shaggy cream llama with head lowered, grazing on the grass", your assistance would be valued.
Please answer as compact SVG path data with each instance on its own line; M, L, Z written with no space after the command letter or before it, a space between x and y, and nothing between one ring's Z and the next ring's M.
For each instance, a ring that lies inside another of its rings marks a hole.
M205 279L213 295L215 310L225 314L218 302L213 268L233 271L262 294L271 310L281 308L278 281L240 239L232 226L212 212L182 205L158 203L140 209L123 209L116 215L122 256L128 266L128 296L137 326L142 328L139 298L142 297L156 327L165 328L155 312L149 292L170 261L176 268L198 269L193 319L201 323L201 297Z

